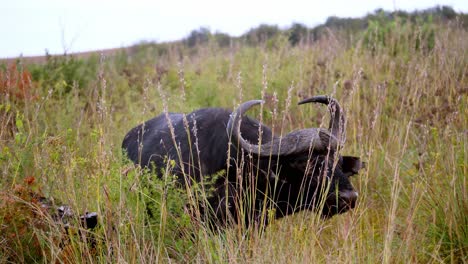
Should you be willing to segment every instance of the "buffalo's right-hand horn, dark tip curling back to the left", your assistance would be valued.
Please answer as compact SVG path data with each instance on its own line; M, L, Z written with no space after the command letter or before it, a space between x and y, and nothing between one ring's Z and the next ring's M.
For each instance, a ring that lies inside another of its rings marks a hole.
M332 136L334 136L339 146L342 147L346 141L346 119L338 101L327 95L317 95L300 101L298 104L307 104L307 103L321 103L328 105L330 110L330 124L328 129L330 130Z

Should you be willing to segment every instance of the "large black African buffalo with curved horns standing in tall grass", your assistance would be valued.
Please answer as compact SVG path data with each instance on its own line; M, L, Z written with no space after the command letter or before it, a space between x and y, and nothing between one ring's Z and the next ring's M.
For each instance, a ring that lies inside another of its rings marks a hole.
M328 96L299 102L328 105L329 129L301 129L282 137L244 116L262 102L245 102L234 112L163 113L130 130L122 148L134 163L159 175L172 160L171 174L188 186L211 181L214 192L199 207L217 223L244 220L248 225L265 209L280 218L305 209L331 217L354 208L358 195L349 177L363 163L339 155L345 118L338 102Z

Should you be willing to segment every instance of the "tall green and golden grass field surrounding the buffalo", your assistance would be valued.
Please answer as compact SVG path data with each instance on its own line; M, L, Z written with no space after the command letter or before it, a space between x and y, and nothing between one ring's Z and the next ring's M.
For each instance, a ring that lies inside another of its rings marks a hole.
M468 34L430 29L330 31L294 47L283 36L226 48L146 44L4 65L0 262L468 262ZM346 109L342 153L367 162L352 179L357 208L330 220L302 212L264 232L214 232L184 213L185 189L150 180L121 153L129 129L164 111L250 99L267 101L264 122L278 131L324 126L324 107L296 105L319 94ZM98 212L99 227L72 221L66 234L38 195L77 215Z

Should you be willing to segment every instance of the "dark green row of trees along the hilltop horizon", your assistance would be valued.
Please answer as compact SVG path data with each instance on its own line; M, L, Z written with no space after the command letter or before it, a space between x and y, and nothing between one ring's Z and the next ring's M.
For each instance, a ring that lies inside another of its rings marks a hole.
M259 45L268 42L279 36L286 37L292 46L301 43L311 43L319 40L328 30L339 30L352 35L366 30L375 23L385 25L387 23L414 23L414 24L438 24L457 20L463 28L468 27L468 14L457 13L450 6L435 6L425 10L413 12L406 11L385 11L376 9L374 12L361 18L340 18L336 16L328 17L325 23L308 27L302 23L294 23L289 28L281 29L277 25L261 24L252 28L240 37L232 37L226 33L212 33L209 28L201 27L194 29L182 40L184 45L195 47L197 45L208 43L214 40L220 47L227 47L233 41L242 41L248 45Z

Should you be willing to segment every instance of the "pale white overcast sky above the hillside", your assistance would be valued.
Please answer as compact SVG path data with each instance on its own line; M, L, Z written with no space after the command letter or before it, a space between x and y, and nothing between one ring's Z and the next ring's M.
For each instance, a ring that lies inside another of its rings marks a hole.
M239 36L261 23L312 27L332 15L435 5L468 12L467 0L0 0L0 58L179 40L201 26Z

